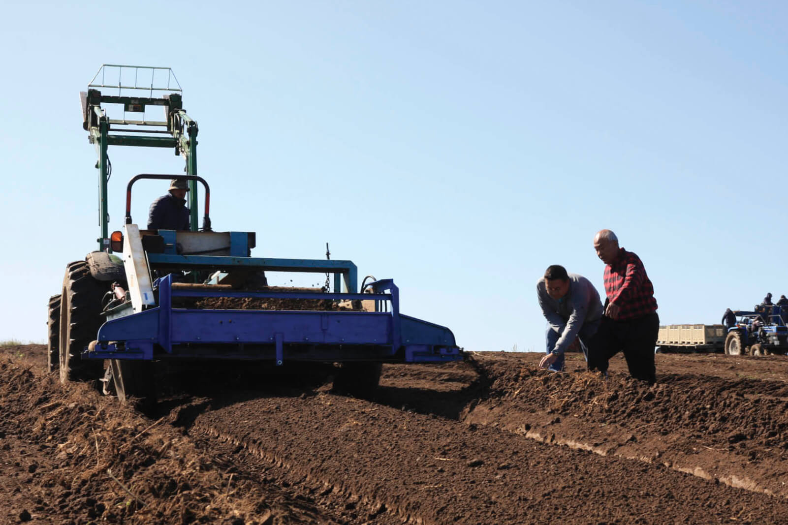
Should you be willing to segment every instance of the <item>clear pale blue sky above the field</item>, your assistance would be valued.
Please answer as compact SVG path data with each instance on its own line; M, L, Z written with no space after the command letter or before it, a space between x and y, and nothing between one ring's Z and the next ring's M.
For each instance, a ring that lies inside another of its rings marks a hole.
M257 232L258 256L328 241L466 350L541 351L537 278L563 264L602 289L602 228L663 323L788 294L786 6L6 2L0 340L43 342L65 264L95 249L78 93L102 63L173 68L214 229ZM130 177L183 169L110 158L111 229ZM136 222L163 190L140 186Z

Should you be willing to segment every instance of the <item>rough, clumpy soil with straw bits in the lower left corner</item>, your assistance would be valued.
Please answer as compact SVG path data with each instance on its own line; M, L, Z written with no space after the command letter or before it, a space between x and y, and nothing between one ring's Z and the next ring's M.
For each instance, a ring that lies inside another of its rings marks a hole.
M45 352L0 351L0 522L347 523L164 418L60 385Z

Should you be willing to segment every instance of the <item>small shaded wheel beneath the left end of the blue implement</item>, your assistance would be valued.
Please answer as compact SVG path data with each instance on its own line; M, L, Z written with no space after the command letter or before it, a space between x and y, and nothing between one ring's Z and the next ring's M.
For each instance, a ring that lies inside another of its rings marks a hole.
M151 411L156 406L153 362L110 359L104 393L114 393L121 403L134 401L136 408Z

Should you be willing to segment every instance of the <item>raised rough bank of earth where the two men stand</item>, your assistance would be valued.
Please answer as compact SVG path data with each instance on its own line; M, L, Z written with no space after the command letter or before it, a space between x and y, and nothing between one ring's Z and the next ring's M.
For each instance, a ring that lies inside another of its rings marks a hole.
M582 370L582 356L563 374L538 370L538 357L475 358L488 389L463 419L788 496L788 382L774 372L785 357L658 356L651 386L629 378L621 359L605 380ZM730 374L744 360L749 373ZM708 374L717 364L722 373ZM752 375L758 367L764 377Z

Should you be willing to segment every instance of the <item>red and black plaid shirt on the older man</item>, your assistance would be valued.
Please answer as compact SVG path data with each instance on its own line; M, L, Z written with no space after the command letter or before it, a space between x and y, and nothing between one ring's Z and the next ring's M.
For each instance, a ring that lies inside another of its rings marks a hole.
M640 258L619 248L619 256L604 267L604 291L608 301L621 308L619 319L634 319L656 311L654 286Z

